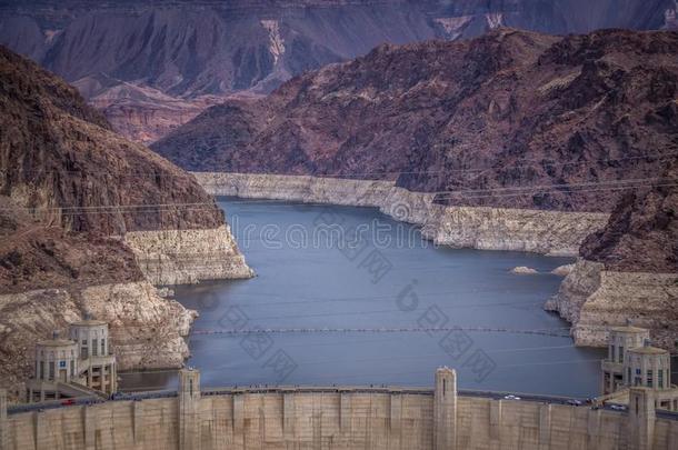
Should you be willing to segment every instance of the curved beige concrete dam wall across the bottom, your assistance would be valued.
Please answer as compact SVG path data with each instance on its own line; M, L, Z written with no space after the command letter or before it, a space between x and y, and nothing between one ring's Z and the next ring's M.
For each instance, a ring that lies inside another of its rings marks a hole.
M433 389L276 387L202 390L182 370L177 392L20 411L0 397L2 450L640 449L678 448L678 414L646 388L614 411L546 398Z

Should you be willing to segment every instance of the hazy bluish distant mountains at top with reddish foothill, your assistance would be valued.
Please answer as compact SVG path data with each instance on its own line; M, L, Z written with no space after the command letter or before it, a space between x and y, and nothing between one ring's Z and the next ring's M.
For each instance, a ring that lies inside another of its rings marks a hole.
M675 0L8 1L0 43L78 84L116 80L97 102L106 99L118 131L149 142L205 108L206 96L269 92L382 42L453 40L499 26L659 29L675 26L676 9ZM118 88L128 83L175 102L132 101Z

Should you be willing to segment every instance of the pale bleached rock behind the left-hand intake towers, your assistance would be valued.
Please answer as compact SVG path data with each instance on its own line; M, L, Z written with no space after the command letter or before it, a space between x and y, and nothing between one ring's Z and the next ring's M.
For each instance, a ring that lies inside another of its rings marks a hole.
M32 373L28 357L36 339L54 330L66 336L68 324L86 313L109 322L120 370L180 366L188 357L183 337L197 317L179 302L159 297L148 281L0 294L2 386Z

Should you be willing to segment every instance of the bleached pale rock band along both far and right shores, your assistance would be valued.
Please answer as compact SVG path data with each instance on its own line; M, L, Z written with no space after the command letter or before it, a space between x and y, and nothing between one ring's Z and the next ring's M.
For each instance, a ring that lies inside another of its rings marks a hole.
M605 213L440 206L433 203L432 194L410 192L391 181L193 174L215 196L379 208L396 220L421 226L423 236L437 243L455 248L578 256L587 237L600 233L610 218ZM657 344L675 348L676 273L610 270L582 258L574 267L559 269L558 274L567 277L546 309L572 323L577 346L605 346L607 330L631 319L639 327L649 328Z

